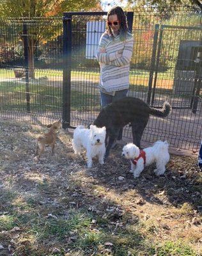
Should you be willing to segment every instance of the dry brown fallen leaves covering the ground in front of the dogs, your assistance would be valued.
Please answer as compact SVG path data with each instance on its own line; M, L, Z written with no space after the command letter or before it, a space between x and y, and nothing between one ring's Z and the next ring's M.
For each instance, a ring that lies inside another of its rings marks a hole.
M11 139L10 144L4 140L5 134L1 130L0 189L6 191L12 188L10 193L19 193L24 198L24 205L14 204L15 198L12 197L6 200L6 194L3 194L0 196L0 201L4 200L0 216L8 215L10 207L13 207L25 219L27 212L31 211L38 220L43 218L55 223L70 220L69 209L81 209L91 216L89 232L98 233L100 229L108 228L113 236L120 230L127 230L130 225L138 229L139 224L155 220L160 235L154 230L153 236L160 241L178 236L182 228L192 228L193 232L199 230L199 211L202 205L201 182L198 168L194 165L196 159L171 156L163 177L156 177L153 174L154 167L148 166L141 173L141 177L135 180L128 172L130 163L120 157L120 148L112 152L114 155L111 159L116 161L108 161L104 166L95 164L89 171L86 169L86 162L74 156L70 138L63 138L68 135L59 134L56 154L51 156L47 148L40 163L36 164L33 161L35 138L41 129L30 129L27 132L29 129L30 126L27 125L25 134L20 127L15 129L15 125L6 128L5 132ZM17 138L14 140L14 137ZM184 203L192 207L180 210ZM27 225L31 225L31 221L25 224L19 219L19 222L15 222L15 225L21 224L19 227L12 226L10 230L1 231L1 252L9 250L13 253L13 250L31 248L32 244L26 241L19 243L29 232ZM45 253L63 253L58 241L54 239L55 236L52 236L48 242L44 240L44 243L50 244L50 248L44 249ZM75 228L64 234L66 255L72 255L68 251L78 239L80 235ZM100 243L102 248L99 252L112 255L114 244L110 239ZM36 246L40 244L36 242ZM130 250L128 255L133 255Z

